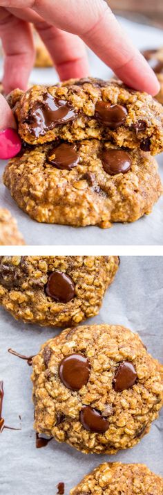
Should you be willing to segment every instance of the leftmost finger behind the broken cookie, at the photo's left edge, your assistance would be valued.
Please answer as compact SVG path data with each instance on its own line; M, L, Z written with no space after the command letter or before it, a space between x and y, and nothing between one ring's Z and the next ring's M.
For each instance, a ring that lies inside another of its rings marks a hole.
M0 36L4 50L4 91L8 93L15 87L26 90L35 60L30 25L0 8Z

